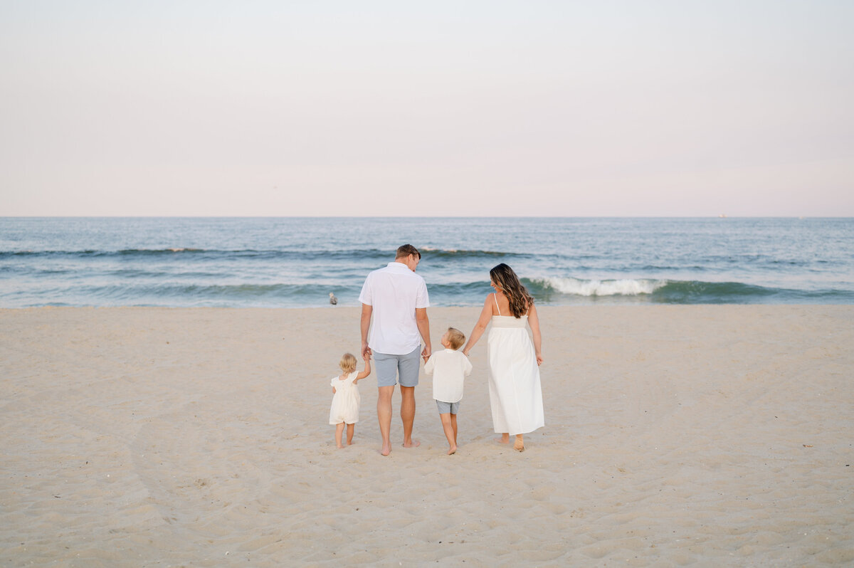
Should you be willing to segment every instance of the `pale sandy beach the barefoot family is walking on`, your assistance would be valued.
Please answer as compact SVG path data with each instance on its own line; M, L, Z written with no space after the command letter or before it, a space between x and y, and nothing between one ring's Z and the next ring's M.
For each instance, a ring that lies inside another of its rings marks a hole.
M434 345L477 308L431 308ZM0 565L851 565L854 306L541 307L546 427L416 391L337 449L355 307L0 310ZM464 564L465 563L465 564Z

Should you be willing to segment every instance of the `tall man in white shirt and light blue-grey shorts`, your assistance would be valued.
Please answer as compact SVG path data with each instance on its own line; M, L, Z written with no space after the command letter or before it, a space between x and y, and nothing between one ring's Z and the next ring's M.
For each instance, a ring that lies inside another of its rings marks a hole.
M377 369L377 419L383 435L381 454L391 453L391 395L399 377L401 384L401 420L403 447L414 448L420 442L412 440L415 421L415 386L418 384L418 351L430 357L430 321L427 319L427 284L415 273L421 253L411 244L397 249L394 262L368 274L359 301L362 302L362 354L373 354ZM371 316L373 326L371 327ZM368 341L368 329L371 339Z

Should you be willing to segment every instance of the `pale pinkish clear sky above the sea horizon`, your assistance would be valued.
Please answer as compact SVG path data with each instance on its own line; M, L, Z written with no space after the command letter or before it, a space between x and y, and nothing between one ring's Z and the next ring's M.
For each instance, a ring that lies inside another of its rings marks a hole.
M854 2L0 3L0 216L854 216Z

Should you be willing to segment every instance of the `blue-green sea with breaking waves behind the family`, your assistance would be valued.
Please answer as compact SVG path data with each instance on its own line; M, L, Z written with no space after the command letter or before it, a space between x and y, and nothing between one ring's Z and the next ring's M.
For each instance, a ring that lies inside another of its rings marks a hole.
M854 303L851 218L0 218L0 307L354 306L403 243L435 306Z

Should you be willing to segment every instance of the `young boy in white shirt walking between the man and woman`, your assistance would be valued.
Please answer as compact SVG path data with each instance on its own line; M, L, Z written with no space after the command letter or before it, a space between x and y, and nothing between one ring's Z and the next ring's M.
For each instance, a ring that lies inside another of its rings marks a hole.
M442 336L442 351L430 356L424 365L424 372L433 375L433 398L439 407L439 418L445 430L447 454L457 451L457 409L463 398L463 380L471 374L471 362L462 352L457 351L465 343L462 331L447 328Z

